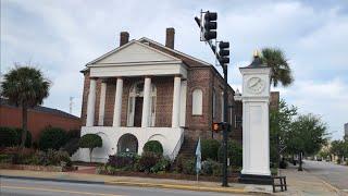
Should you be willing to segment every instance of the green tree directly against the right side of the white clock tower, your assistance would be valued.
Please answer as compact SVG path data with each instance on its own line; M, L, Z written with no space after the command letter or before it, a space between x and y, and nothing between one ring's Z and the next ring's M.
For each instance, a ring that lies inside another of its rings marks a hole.
M270 154L271 163L279 164L281 150L286 148L285 136L289 132L291 121L297 114L295 106L288 106L284 99L281 99L279 107L270 112Z

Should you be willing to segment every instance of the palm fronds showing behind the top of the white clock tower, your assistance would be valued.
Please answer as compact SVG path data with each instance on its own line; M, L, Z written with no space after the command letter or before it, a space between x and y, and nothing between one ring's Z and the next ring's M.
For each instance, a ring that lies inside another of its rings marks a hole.
M278 83L289 86L294 82L291 69L284 52L276 48L262 49L262 62L272 69L271 83L276 87Z

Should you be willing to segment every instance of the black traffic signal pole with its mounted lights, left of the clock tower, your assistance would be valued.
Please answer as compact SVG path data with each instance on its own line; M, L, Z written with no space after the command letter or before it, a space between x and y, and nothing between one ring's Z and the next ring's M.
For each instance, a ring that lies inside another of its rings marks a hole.
M216 12L200 12L200 17L195 17L199 28L200 28L200 40L206 41L211 50L214 52L220 65L223 69L224 75L224 119L223 122L219 123L221 130L223 131L223 168L222 168L222 186L228 186L227 181L227 139L229 124L228 119L228 83L227 83L227 64L229 63L229 42L216 41L217 33L217 13ZM214 40L214 41L212 41ZM219 52L217 52L219 42ZM215 125L216 123L213 123ZM217 124L216 124L217 125ZM216 126L217 127L217 126ZM217 128L219 130L219 128Z

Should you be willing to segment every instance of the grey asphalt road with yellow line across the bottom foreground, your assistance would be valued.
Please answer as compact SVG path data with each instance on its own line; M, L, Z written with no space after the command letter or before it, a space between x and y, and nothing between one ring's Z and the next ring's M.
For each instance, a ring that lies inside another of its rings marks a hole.
M0 179L0 195L1 196L64 196L64 195L92 195L92 196L120 196L120 195L187 195L187 196L203 196L203 195L227 195L221 193L209 192L190 192L181 189L163 189L149 187L130 187L130 186L114 186L102 184L79 184L51 181L34 181L34 180L16 180L16 179ZM229 194L231 195L231 194Z

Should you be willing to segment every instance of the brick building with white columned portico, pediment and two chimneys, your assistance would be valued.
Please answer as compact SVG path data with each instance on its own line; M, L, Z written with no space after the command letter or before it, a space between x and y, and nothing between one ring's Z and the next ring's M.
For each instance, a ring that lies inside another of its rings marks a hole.
M175 50L174 34L167 28L162 45L145 37L129 41L122 32L119 47L82 71L82 135L103 139L95 161L122 151L141 154L148 140L159 140L164 155L174 159L181 149L192 149L199 136L221 138L211 125L224 121L223 77L212 64ZM241 103L236 105L234 95L228 86L226 121L232 138L241 143ZM89 159L85 149L75 156Z

